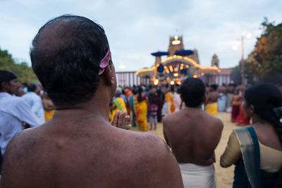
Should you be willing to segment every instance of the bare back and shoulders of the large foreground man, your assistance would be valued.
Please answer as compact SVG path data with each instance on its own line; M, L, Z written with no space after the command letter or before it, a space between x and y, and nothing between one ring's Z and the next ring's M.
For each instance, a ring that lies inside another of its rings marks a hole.
M158 137L57 116L13 140L1 187L183 187L176 160Z

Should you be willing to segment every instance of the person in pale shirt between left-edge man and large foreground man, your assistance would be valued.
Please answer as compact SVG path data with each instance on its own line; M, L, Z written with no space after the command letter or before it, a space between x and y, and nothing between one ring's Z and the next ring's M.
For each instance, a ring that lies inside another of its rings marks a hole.
M35 84L28 84L27 85L27 93L21 96L27 104L30 106L31 110L37 118L39 119L39 123L45 123L44 117L44 108L42 104L41 97L36 94L38 87Z

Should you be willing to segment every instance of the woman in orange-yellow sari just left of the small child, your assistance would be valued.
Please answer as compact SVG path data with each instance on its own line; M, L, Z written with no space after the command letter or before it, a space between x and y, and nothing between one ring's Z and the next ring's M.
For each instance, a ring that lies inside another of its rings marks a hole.
M147 95L142 87L139 87L137 96L134 97L134 111L139 130L147 131L147 101Z

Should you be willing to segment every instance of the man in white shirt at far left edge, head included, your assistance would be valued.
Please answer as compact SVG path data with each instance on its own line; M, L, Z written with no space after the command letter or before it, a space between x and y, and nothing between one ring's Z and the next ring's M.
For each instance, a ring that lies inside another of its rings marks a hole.
M16 75L0 70L0 147L3 156L8 143L23 130L23 123L37 127L39 120L30 106L18 96L20 83Z

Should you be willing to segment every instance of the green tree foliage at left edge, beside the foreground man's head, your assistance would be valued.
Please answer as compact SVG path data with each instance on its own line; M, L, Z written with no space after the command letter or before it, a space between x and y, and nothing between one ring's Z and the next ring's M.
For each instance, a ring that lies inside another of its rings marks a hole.
M27 63L16 63L8 51L0 49L0 70L8 70L15 73L19 82L35 83L38 82L35 73Z

